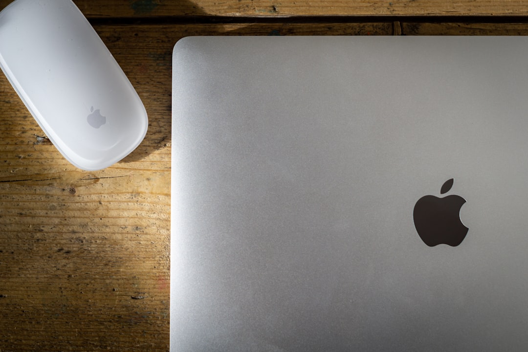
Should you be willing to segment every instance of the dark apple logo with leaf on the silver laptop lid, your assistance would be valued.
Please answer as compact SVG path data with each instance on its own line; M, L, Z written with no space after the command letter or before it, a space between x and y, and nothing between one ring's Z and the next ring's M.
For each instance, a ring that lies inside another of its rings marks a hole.
M448 179L440 193L449 192L453 179ZM460 208L466 199L458 195L439 198L433 195L423 196L414 205L414 226L418 235L430 247L438 244L457 246L466 237L469 230L460 220Z

